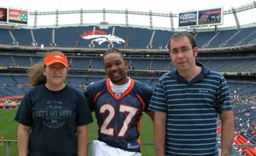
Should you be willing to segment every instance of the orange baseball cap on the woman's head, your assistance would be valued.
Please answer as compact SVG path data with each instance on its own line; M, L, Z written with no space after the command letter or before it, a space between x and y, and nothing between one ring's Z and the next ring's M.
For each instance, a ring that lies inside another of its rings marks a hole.
M44 64L46 66L50 66L57 62L67 67L67 57L62 53L51 53L44 58Z

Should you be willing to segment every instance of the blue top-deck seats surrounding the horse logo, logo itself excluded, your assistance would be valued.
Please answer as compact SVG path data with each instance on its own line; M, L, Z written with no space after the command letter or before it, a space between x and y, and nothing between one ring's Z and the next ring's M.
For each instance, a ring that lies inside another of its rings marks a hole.
M121 27L110 26L107 29L100 29L99 26L83 26L83 27L58 27L58 28L40 28L33 30L38 45L51 46L53 41L54 29L54 43L59 47L74 47L75 41L78 41L79 47L89 47L91 40L83 39L84 32L92 32L93 30L102 30L107 35L116 35L127 42L128 48L146 48L152 39L151 46L147 48L162 49L166 48L170 36L173 32L170 30L150 30L146 27ZM218 32L205 31L195 32L193 35L197 40L199 48L225 47L234 45L244 45L249 43L256 43L256 27L244 27L240 30L220 30ZM15 29L10 30L14 39L19 45L31 45L32 35L29 29ZM154 32L154 33L153 33ZM153 35L154 34L154 35ZM0 44L12 44L12 38L9 30L0 28ZM113 42L114 47L123 48L125 43L117 44ZM92 47L93 45L91 45ZM108 48L108 42L101 45L94 42L95 48Z

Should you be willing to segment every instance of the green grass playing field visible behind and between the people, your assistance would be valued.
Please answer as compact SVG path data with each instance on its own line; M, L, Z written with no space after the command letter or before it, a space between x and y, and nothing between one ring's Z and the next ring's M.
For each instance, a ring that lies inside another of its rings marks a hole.
M18 123L14 121L15 113L17 108L12 109L0 109L0 136L4 136L4 139L15 140L17 136L17 126ZM94 116L94 115L93 115ZM97 125L96 119L94 116L94 123L89 124L88 126L88 142L97 139ZM149 116L144 114L141 121L141 143L153 143L153 123ZM90 154L89 147L89 155ZM0 147L0 156L7 155L6 143L3 147ZM11 144L11 156L17 156L17 144ZM142 146L142 155L145 156L154 156L154 147L151 145Z

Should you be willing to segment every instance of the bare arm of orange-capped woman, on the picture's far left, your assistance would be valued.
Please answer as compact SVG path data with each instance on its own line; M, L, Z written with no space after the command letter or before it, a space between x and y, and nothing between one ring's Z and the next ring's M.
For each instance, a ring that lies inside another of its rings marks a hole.
M17 144L19 156L28 155L28 136L30 132L30 126L22 125L21 123L18 126L17 130Z

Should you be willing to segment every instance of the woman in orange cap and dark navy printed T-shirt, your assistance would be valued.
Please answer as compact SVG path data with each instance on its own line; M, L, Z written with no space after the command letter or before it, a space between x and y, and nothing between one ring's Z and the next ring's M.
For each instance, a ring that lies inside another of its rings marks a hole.
M65 84L67 57L49 53L29 75L33 86L17 110L20 156L85 156L92 116L82 92Z

